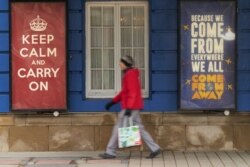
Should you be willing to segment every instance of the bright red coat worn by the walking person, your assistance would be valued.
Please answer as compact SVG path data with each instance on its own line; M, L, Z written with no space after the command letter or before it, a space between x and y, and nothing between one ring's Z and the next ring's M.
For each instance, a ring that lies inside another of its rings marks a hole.
M143 99L141 95L141 84L139 79L139 70L128 69L122 78L122 90L116 95L114 103L121 101L122 109L143 109Z

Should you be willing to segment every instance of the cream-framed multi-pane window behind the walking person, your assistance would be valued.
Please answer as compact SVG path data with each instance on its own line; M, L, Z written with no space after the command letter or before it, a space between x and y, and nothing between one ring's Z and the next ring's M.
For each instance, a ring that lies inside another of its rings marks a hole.
M131 55L148 96L148 4L86 3L86 97L109 98L121 89L121 56Z

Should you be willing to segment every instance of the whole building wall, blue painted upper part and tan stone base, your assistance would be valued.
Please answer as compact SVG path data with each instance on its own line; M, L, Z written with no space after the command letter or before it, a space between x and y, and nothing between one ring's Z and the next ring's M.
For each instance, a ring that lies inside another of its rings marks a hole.
M68 101L60 117L0 115L1 151L104 150L116 113L103 111L106 100L85 94L84 0L68 2ZM162 149L249 150L248 114L173 114L178 111L177 0L150 0L150 98L142 120ZM237 111L250 111L250 1L238 0ZM9 0L0 0L0 112L10 112ZM114 111L119 109L118 106ZM133 149L146 149L142 148Z

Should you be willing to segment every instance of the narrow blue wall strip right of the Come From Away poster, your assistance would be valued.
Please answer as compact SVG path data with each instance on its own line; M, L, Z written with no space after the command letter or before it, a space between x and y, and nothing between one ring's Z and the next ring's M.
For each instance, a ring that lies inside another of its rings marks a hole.
M250 1L238 1L238 110L250 111Z

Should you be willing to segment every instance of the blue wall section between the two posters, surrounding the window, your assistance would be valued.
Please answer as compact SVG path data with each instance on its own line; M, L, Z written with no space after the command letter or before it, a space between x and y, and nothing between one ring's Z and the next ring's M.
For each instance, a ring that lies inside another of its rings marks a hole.
M69 1L70 111L103 111L109 100L85 99L84 3ZM177 111L177 1L150 2L150 98L146 111ZM165 21L168 20L168 21ZM82 63L83 62L83 63ZM119 110L116 106L114 111Z

